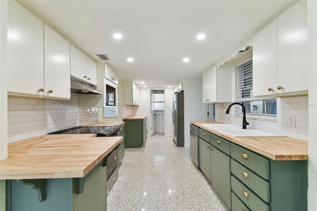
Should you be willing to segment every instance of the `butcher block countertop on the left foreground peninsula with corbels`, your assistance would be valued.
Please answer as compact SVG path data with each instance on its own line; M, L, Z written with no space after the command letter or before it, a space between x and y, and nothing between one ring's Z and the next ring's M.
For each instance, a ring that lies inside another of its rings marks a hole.
M122 140L96 134L64 134L10 143L8 158L0 160L0 179L83 177Z

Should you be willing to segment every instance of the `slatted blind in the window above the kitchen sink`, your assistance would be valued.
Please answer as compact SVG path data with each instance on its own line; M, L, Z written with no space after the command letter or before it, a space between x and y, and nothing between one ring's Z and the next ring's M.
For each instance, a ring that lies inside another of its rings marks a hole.
M252 57L236 65L237 99L252 98L253 62Z

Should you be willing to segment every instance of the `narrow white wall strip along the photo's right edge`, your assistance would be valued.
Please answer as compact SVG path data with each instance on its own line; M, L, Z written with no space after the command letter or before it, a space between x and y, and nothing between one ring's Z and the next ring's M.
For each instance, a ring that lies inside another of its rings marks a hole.
M317 1L307 1L308 21L308 210L317 211Z

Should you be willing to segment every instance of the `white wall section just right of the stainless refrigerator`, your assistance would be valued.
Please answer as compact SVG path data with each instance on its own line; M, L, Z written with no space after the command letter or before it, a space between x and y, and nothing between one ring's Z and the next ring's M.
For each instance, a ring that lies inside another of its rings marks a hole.
M183 80L184 90L184 147L190 148L190 121L203 120L202 80Z

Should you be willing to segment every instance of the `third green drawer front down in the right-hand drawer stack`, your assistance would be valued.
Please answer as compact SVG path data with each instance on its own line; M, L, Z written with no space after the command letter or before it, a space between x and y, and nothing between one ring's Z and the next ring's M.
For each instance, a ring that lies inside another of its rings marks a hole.
M231 175L231 190L252 211L269 211L270 210L269 206L264 201L262 201L254 192L252 192L249 188L244 186L238 179L236 179L232 175Z

